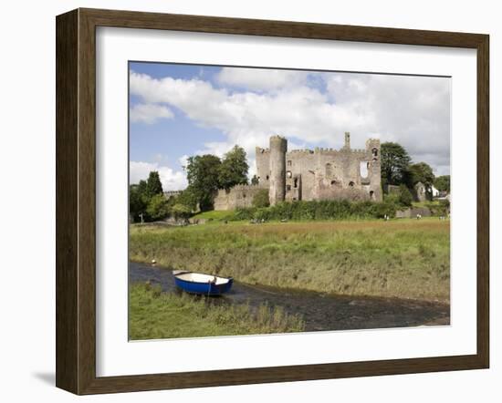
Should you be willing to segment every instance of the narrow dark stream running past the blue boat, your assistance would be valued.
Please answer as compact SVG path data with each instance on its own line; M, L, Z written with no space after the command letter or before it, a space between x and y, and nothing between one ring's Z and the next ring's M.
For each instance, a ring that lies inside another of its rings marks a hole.
M131 262L129 278L131 283L160 284L163 292L176 291L171 270L159 266ZM280 305L288 314L301 315L308 332L450 324L450 306L427 301L322 294L236 281L227 294L212 298L218 304Z

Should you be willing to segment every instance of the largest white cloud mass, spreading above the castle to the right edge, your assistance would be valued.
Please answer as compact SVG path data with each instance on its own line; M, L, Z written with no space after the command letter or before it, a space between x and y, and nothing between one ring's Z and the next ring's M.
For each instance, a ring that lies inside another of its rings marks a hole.
M156 79L131 71L131 93L148 103L181 109L196 124L225 135L225 140L206 143L198 153L222 156L238 144L252 158L255 147L267 147L272 134L294 137L299 144L323 142L340 148L343 132L350 131L354 148L363 148L369 137L397 141L413 160L420 161L426 155L425 161L434 168L447 169L448 78L319 73L309 80L314 76L306 75L285 70L222 69L220 83L272 88L252 92L214 88L201 79Z

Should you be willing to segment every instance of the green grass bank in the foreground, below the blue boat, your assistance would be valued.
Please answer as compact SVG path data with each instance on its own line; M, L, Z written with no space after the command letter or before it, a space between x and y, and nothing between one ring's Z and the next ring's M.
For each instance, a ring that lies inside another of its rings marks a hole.
M132 340L172 337L258 335L300 332L303 321L281 307L215 305L211 298L161 293L148 284L130 288L129 335Z

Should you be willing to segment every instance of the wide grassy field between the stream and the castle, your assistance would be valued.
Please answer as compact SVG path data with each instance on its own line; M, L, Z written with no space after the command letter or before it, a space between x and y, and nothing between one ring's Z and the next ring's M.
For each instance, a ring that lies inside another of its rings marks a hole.
M131 225L130 257L248 284L449 301L450 224L437 218Z

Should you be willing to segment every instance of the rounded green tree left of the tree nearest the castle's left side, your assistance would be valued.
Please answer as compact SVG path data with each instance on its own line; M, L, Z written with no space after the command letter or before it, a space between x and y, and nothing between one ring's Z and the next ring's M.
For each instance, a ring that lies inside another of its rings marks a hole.
M220 188L221 164L222 161L211 154L196 155L187 160L188 185L202 211L213 208L214 194Z

